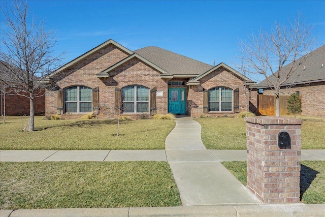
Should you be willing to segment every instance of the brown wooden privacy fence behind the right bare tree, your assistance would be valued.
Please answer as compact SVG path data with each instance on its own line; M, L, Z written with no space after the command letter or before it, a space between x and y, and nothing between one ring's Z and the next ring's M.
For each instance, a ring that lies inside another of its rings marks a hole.
M287 115L288 98L290 96L280 96L280 116ZM301 99L301 96L300 96ZM275 115L275 96L258 95L257 101L258 112L262 115Z

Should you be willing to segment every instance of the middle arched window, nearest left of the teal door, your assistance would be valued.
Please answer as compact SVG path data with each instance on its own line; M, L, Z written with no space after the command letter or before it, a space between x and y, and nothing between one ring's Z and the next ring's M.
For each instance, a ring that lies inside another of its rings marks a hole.
M149 112L149 89L144 86L126 86L122 88L122 112Z

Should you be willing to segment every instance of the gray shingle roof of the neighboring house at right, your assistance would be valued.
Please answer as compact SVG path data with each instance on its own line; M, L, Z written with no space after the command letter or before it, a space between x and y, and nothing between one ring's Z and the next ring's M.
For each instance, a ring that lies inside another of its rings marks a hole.
M296 72L291 75L286 84L301 84L310 83L325 80L325 45L317 48L316 50L307 54L306 63L298 67ZM304 57L301 57L304 58ZM297 61L299 62L299 60ZM290 63L282 68L282 70L288 69L293 63ZM323 65L323 66L322 66ZM306 67L306 68L305 68ZM270 76L270 79L275 79L274 76ZM259 86L268 87L267 80L261 81Z

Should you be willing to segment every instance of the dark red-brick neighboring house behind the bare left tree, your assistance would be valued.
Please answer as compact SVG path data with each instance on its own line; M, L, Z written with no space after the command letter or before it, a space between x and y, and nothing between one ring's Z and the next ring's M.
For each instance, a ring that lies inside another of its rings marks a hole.
M8 65L4 61L0 61L0 73L6 73L8 71ZM21 95L25 95L17 91L11 85L5 85L0 81L0 114L4 115L29 115L29 98ZM37 98L35 98L35 114L45 113L45 89L41 89L37 92ZM5 108L6 105L6 108Z

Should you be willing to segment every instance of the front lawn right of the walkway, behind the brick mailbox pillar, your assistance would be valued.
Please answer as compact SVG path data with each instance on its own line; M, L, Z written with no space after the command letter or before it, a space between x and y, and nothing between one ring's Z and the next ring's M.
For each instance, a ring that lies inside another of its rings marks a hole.
M325 118L302 117L302 149L325 149ZM202 141L208 149L246 149L243 118L197 118Z

